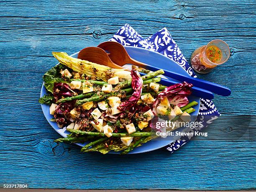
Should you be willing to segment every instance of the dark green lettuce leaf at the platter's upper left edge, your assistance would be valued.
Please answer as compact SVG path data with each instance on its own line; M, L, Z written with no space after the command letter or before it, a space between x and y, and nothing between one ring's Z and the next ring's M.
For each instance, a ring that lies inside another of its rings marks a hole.
M68 69L69 72L72 69L69 69L67 66L63 64L57 64L56 66L52 67L48 72L46 72L43 76L44 79L44 87L49 92L53 93L54 83L67 83L64 79L61 78L61 70Z

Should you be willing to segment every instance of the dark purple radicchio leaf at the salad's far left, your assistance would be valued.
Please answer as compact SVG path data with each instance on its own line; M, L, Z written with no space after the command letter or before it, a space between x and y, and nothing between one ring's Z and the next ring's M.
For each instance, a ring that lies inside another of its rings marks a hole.
M54 83L53 95L56 102L62 97L73 96L73 92L67 83Z

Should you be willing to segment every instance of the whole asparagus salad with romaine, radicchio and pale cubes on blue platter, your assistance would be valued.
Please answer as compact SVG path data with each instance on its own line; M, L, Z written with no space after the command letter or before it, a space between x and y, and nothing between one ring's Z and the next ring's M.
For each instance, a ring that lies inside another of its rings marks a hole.
M60 63L44 74L47 95L39 102L50 105L51 121L70 132L55 142L86 142L82 152L127 154L157 137L152 118L187 120L198 104L187 99L192 84L158 84L163 70L141 77L138 69L112 69L64 52L53 55Z

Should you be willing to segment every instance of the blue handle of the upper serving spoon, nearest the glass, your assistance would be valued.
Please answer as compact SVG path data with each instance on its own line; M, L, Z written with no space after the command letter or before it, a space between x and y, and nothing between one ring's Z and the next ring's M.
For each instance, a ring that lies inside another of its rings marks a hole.
M149 69L151 71L159 70L158 68L153 67L153 66L148 65L148 64L146 66L146 69ZM170 72L170 71L165 70L165 69L163 69L163 70L164 70L164 76L166 76L166 77L171 77L172 79L176 79L176 80L181 81L181 82L185 81L185 82L191 83L195 87L198 87L198 88L200 87L203 90L208 90L208 91L216 93L218 95L228 96L228 95L231 94L231 90L228 87L225 87L223 85L220 85L220 84L217 84L217 83L212 83L212 82L202 80L202 79L197 79L197 78L194 78L194 77L187 77L187 76L184 76L182 74L177 74L175 72Z

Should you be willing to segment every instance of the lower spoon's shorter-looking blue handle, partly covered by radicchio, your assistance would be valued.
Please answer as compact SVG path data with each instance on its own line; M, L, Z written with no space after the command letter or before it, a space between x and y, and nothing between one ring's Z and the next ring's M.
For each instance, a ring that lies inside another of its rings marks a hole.
M160 84L165 85L167 87L169 87L172 84L176 84L179 82L173 81L173 80L169 80L169 79L163 79L161 78ZM208 99L208 100L212 100L214 98L214 95L212 92L201 89L199 87L192 87L192 95L199 97L199 98L204 98L204 99Z

